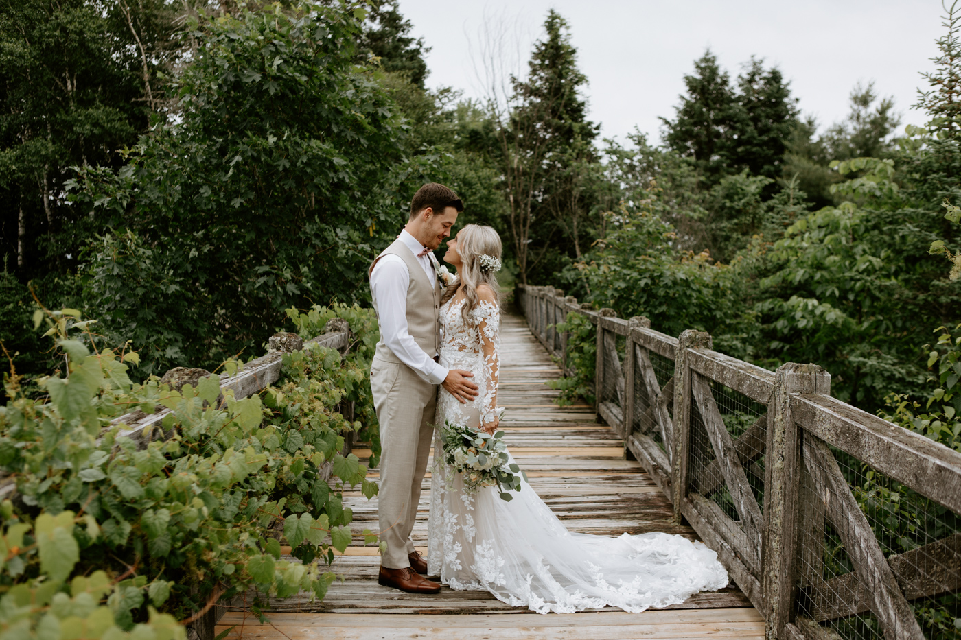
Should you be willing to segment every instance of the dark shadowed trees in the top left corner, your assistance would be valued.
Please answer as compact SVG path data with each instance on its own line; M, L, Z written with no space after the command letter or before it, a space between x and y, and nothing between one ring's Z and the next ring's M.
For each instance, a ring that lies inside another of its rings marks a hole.
M112 150L148 127L145 83L169 60L176 10L124 4L146 61L119 3L18 0L0 11L0 253L21 282L76 266L98 228L62 197L69 167L116 166Z

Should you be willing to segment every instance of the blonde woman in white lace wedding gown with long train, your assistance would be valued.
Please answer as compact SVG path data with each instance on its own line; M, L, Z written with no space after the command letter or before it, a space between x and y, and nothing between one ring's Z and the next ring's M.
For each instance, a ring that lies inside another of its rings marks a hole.
M448 242L444 260L458 278L440 308L440 363L472 372L481 393L462 405L441 388L438 425L488 433L498 427L500 258L501 238L490 227L467 225ZM717 554L700 542L666 533L608 538L568 531L526 480L510 502L496 487L465 491L443 463L439 429L433 447L428 573L454 589L486 589L539 613L608 605L640 612L727 585Z

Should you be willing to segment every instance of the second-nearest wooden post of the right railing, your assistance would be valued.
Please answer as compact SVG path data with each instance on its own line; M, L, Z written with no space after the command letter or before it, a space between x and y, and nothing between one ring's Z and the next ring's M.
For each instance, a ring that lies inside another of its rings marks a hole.
M688 452L691 445L691 376L688 349L711 349L714 341L708 332L688 329L678 335L674 359L674 432L671 442L671 502L674 521L680 522L680 505L687 496Z

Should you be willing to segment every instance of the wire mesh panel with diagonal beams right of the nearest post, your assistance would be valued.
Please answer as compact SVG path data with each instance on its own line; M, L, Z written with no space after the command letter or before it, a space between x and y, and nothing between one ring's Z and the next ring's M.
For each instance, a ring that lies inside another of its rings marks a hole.
M958 514L807 433L800 504L802 629L845 640L961 638Z

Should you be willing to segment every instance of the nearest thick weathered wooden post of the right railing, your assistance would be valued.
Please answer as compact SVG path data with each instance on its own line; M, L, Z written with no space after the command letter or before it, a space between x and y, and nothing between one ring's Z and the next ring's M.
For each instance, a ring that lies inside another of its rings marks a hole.
M830 394L831 375L816 364L787 362L777 368L768 403L765 451L761 592L767 640L788 637L795 601L801 428L791 417L791 394Z

